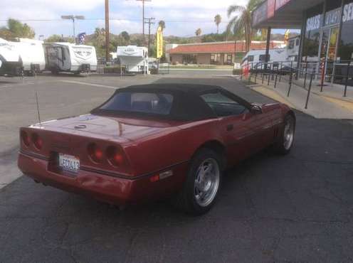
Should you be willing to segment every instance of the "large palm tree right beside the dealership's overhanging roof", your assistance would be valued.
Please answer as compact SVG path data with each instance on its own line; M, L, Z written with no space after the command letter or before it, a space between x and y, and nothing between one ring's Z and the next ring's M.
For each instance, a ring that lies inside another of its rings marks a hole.
M246 42L246 52L250 50L251 39L253 38L256 30L252 28L252 13L262 0L250 0L246 6L229 6L228 17L233 13L239 13L238 16L231 18L227 26L227 32L233 32L235 35L244 34Z

